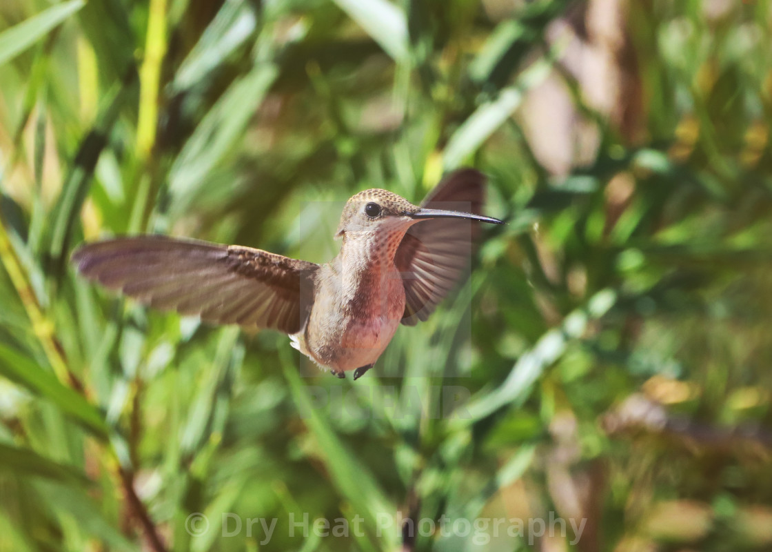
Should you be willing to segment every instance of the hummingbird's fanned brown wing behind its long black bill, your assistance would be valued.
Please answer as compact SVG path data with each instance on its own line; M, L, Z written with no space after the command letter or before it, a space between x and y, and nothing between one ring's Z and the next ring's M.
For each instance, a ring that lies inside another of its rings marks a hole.
M421 206L482 214L485 182L475 169L452 172ZM462 219L426 220L405 233L394 256L405 281L403 324L415 325L434 312L468 267L478 234L477 223Z

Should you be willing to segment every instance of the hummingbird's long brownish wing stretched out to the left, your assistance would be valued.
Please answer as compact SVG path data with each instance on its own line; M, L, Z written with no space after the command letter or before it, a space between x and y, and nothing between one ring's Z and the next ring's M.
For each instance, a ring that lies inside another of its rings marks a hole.
M251 247L161 236L86 244L73 263L86 278L154 308L289 334L306 323L319 267Z

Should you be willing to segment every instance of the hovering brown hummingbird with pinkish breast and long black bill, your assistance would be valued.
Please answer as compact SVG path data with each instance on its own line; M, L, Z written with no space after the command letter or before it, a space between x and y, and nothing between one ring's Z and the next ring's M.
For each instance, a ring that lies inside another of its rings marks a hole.
M72 261L153 308L284 332L323 369L357 380L400 324L426 320L459 280L479 233L465 221L503 224L480 214L485 182L459 169L418 206L385 189L357 193L340 216L340 253L326 264L158 235L84 244Z

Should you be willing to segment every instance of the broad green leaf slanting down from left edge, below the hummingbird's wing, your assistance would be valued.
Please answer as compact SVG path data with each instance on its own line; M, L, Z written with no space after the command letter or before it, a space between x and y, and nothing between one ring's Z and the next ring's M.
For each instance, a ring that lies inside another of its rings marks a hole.
M110 433L100 412L82 395L64 387L52 373L5 345L0 345L0 375L50 400L97 437L106 439Z

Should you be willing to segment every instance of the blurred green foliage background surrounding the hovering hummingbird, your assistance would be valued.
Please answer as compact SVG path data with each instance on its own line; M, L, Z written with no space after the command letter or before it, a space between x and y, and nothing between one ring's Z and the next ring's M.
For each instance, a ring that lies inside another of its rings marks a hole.
M3 0L0 550L772 550L770 29L769 0ZM463 165L507 225L356 383L68 265L141 232L326 261L327 202ZM584 526L401 535L442 516Z

